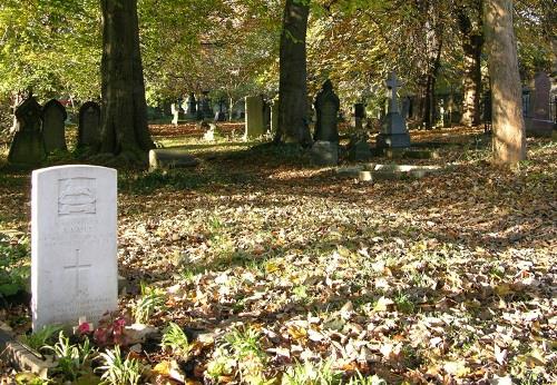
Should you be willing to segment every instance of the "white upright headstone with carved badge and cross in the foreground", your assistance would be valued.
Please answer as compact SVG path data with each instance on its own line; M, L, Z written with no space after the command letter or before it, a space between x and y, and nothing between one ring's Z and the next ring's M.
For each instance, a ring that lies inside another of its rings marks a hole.
M59 166L32 172L33 330L96 323L117 309L116 170Z

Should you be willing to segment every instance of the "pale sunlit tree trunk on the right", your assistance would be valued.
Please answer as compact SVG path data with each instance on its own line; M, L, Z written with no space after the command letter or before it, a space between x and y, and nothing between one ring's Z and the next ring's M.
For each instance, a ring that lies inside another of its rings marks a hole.
M485 4L494 156L496 162L514 164L526 159L526 132L512 27L512 0L486 0Z

